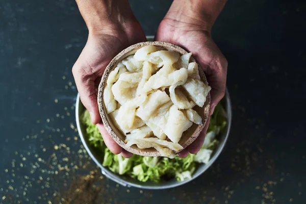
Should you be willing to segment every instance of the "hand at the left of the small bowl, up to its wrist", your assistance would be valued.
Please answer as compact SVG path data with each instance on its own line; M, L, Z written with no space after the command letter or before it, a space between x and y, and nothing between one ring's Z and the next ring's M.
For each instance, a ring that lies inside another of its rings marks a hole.
M97 106L97 91L109 62L124 48L141 41L146 41L146 37L135 17L123 24L109 23L101 31L89 29L87 43L72 68L81 101L89 111L92 122L97 124L106 146L114 154L121 152L126 158L131 157L132 154L122 149L112 139L101 122Z

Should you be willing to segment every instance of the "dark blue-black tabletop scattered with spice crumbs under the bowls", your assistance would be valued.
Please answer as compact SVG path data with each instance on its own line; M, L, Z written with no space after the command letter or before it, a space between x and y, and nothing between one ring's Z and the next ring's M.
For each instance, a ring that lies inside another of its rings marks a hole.
M71 67L88 31L72 0L0 2L0 203L66 203L78 177L100 175L75 132ZM230 1L215 23L213 38L228 60L233 125L207 172L162 191L100 177L88 202L306 203L301 2ZM146 35L154 35L171 1L130 3Z

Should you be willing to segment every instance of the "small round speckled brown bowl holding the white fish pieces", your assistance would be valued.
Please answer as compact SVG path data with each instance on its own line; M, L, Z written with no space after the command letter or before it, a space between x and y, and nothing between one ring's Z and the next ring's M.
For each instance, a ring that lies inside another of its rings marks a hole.
M146 148L146 149L140 149L138 148L135 144L126 147L125 146L125 135L120 132L117 127L113 124L112 119L110 116L107 114L105 104L104 104L104 99L103 99L103 93L104 89L106 86L106 81L107 78L110 74L110 72L117 66L117 64L123 60L124 58L134 55L136 51L146 45L155 45L159 46L162 48L165 48L167 50L173 50L181 55L187 54L188 52L184 50L182 47L179 47L177 45L167 43L167 42L159 42L159 41L153 41L153 42L140 42L137 44L134 44L130 47L127 47L126 49L122 50L114 59L109 63L109 65L106 67L104 74L101 78L101 82L99 84L98 88L98 107L99 107L99 112L100 116L102 118L102 121L104 123L104 126L107 130L107 132L110 134L110 136L124 149L127 151L132 152L133 154L136 155L141 155L141 156L149 156L149 157L159 157L160 152L157 151L155 148ZM190 62L195 62L195 59L191 57ZM203 70L199 66L199 75L201 78L201 81L204 82L205 84L208 85L207 79L205 77L205 74ZM208 94L206 102L203 107L194 107L194 110L201 116L202 118L202 125L198 125L193 123L192 126L183 133L182 138L179 141L179 144L183 146L183 148L187 147L189 144L191 144L200 134L202 131L203 127L205 126L207 119L209 117L209 111L210 111L210 94ZM124 118L123 118L124 119ZM174 154L176 154L179 151L173 151Z

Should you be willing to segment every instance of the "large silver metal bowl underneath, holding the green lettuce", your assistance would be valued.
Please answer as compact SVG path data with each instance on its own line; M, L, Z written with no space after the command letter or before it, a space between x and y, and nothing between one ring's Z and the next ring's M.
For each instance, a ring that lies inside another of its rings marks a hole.
M152 37L147 37L148 40L152 40ZM161 183L154 183L154 182L140 182L136 179L133 179L129 176L125 176L125 175L117 175L113 172L111 172L108 168L105 168L102 166L103 163L103 157L101 156L100 152L93 147L89 141L87 141L85 139L86 137L86 126L84 124L82 124L81 122L81 115L82 113L85 111L85 107L83 106L81 100L80 100L80 95L78 94L77 96L77 103L75 105L75 117L76 117L76 122L77 122L77 126L78 126L78 131L79 131L79 135L80 138L82 140L82 143L85 147L85 149L87 150L89 156L92 158L92 160L101 168L101 172L108 177L110 180L113 180L114 182L117 182L118 184L122 185L122 186L126 186L126 187L137 187L137 188L142 188L142 189L167 189L167 188L173 188L173 187L177 187L177 186L181 186L183 184L186 184L190 181L192 181L193 179L195 179L196 177L198 177L199 175L201 175L203 172L205 172L218 158L218 156L220 155L228 134L230 134L230 129L231 129L231 124L232 124L232 106L231 106L231 100L230 100L230 94L228 93L227 89L225 91L225 96L224 98L221 100L221 104L222 106L225 108L226 111L226 115L227 115L227 124L226 124L226 128L223 131L223 133L221 133L220 135L218 135L218 140L220 141L220 144L218 145L218 147L215 149L215 151L213 152L210 161L208 162L208 164L200 164L198 166L198 168L195 170L195 172L192 175L192 178L190 180L186 180L183 182L178 182L175 179L172 179L170 181L162 181Z

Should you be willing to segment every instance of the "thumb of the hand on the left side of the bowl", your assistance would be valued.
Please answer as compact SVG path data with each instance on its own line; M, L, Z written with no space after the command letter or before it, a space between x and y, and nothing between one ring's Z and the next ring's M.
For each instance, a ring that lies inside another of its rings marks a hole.
M85 71L87 69L87 71ZM97 124L101 121L98 105L97 91L95 89L95 75L90 74L90 68L78 66L78 62L72 68L75 84L77 85L80 99L85 108L89 111L91 121Z

